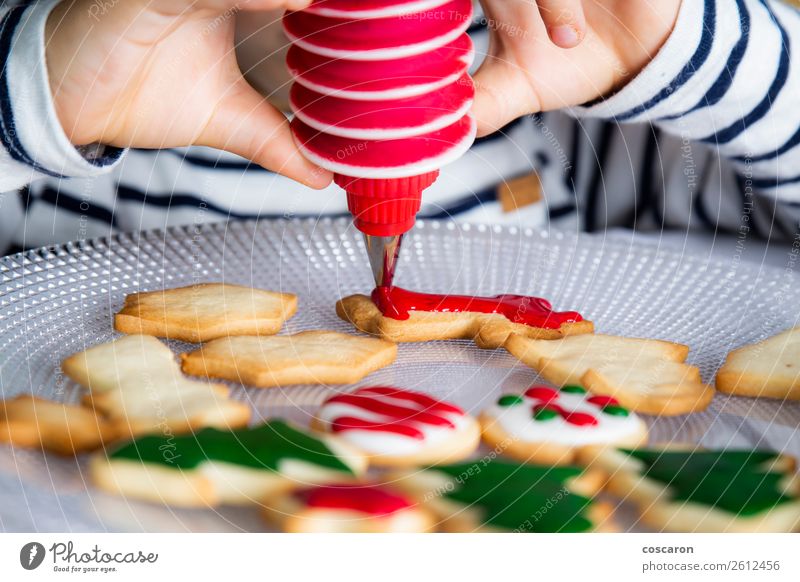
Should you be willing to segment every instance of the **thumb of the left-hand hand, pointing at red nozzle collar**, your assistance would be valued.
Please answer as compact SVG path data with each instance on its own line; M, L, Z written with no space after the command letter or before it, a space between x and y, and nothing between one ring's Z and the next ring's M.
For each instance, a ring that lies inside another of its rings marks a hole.
M244 80L222 98L197 143L238 154L312 188L324 188L333 179L303 157L286 117Z

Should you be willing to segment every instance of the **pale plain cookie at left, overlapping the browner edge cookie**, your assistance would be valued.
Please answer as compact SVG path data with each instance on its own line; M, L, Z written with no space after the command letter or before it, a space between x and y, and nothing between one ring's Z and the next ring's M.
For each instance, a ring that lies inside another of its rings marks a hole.
M120 431L183 432L201 426L244 426L250 407L228 398L228 388L186 378L158 339L130 335L64 360L64 372L89 389L90 405Z

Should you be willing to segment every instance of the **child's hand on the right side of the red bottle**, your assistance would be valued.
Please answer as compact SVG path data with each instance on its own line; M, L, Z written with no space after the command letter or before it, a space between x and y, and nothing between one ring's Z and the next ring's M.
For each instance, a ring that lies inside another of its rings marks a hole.
M481 0L491 31L475 75L480 135L619 88L655 56L681 0Z

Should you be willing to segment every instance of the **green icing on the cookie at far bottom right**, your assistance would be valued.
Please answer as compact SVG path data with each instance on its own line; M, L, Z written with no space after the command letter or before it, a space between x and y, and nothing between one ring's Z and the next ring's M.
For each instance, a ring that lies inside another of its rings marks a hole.
M756 515L797 497L779 488L785 473L769 470L778 455L764 451L624 450L644 463L644 476L668 485L676 501L737 515Z

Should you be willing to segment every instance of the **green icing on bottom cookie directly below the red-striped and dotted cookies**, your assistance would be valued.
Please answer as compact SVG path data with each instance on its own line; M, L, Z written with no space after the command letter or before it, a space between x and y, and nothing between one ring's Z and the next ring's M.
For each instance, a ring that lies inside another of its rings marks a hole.
M577 467L544 467L492 459L432 467L452 480L441 491L452 501L478 509L487 525L525 532L584 532L591 500L566 488Z

